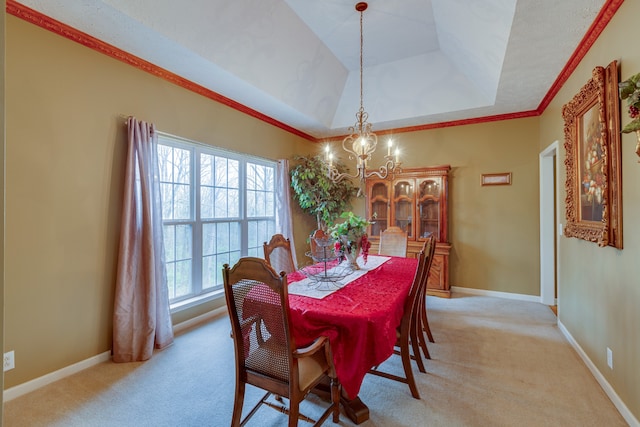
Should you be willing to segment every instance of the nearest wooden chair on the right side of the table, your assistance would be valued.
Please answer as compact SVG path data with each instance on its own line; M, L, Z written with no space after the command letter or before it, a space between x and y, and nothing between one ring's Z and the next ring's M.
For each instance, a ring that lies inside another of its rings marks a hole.
M409 290L409 295L407 296L404 303L400 326L396 328L395 346L398 347L399 350L394 351L394 354L400 355L402 359L404 377L381 371L379 369L379 366L374 366L369 370L370 374L407 384L409 386L409 390L411 391L411 396L416 399L420 399L420 393L418 392L418 387L416 386L415 378L413 376L411 360L413 359L416 361L418 369L421 372L426 372L424 369L424 365L422 364L422 359L420 357L420 347L418 344L418 338L414 323L415 313L417 312L416 305L418 304L420 287L422 285L422 273L426 268L426 260L427 258L423 251L418 253L418 266L416 268L416 273Z

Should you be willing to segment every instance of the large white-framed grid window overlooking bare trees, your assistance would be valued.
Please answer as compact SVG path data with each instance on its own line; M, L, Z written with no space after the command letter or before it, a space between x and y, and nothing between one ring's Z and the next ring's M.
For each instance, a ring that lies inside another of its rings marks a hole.
M169 300L222 288L222 266L262 257L275 230L275 162L161 134Z

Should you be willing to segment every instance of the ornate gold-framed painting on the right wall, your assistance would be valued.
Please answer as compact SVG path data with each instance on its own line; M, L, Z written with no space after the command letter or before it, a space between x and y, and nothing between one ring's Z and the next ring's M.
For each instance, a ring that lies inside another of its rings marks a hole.
M617 62L596 67L562 108L567 157L564 235L622 248ZM612 94L612 92L614 92Z

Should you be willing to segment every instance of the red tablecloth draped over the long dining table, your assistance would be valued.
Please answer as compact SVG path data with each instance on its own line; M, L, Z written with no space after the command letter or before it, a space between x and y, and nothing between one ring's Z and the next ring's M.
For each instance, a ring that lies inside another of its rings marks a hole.
M344 391L354 398L366 373L393 353L396 327L418 262L391 259L323 298L289 295L292 333L298 347L320 335L331 342L336 372ZM304 276L292 273L289 283Z

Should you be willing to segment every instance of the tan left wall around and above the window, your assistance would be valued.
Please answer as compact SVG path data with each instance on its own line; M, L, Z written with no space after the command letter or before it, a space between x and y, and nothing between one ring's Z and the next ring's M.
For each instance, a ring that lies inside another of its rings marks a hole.
M13 16L6 77L7 388L111 347L121 115L272 159L312 147Z

